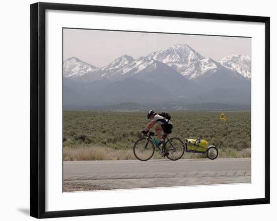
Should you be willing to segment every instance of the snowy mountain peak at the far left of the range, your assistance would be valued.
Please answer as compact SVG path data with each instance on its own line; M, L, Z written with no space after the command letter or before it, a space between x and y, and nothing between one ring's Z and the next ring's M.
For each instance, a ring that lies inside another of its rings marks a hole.
M81 61L77 57L68 58L63 62L63 76L65 78L80 77L97 69L97 67Z

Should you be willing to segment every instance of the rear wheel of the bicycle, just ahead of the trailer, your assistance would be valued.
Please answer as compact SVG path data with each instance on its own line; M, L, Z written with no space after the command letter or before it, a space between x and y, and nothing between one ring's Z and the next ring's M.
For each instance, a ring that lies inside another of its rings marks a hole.
M172 161L179 160L185 152L185 145L183 141L176 137L168 139L165 143L164 148L165 156Z

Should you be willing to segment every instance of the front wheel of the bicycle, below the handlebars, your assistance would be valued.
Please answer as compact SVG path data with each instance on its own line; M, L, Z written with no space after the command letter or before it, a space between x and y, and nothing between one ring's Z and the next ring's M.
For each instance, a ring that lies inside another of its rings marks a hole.
M140 161L148 161L154 155L154 143L146 137L138 139L133 145L133 154Z

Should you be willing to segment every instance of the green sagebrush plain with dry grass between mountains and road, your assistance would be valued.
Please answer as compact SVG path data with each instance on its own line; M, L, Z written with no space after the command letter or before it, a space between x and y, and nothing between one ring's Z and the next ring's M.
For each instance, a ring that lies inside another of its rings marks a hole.
M219 119L221 112L217 111L168 112L173 122L171 137L183 141L196 137L205 139L218 146L222 158L251 156L250 111L224 112L226 121ZM64 160L134 159L133 143L142 136L140 131L148 122L145 112L64 111ZM77 155L78 150L80 156L76 158L73 155ZM102 157L98 159L100 152ZM185 155L185 158L203 157L202 154ZM154 158L159 156L155 154Z

